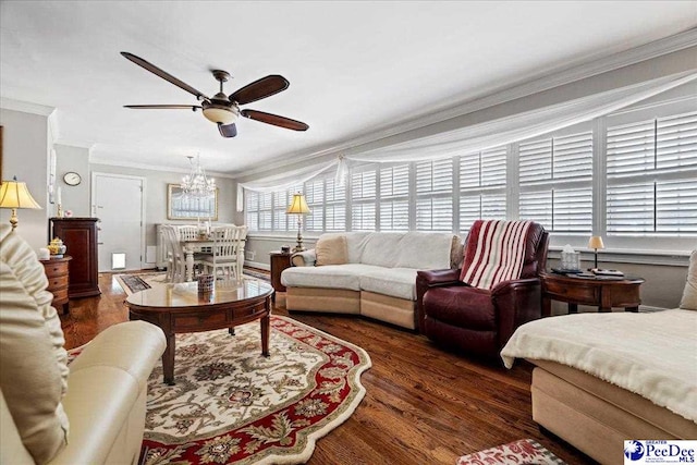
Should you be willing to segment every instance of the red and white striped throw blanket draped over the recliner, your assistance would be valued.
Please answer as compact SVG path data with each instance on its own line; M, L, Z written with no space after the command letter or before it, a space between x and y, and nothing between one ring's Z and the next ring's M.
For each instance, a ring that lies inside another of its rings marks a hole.
M474 287L491 289L502 281L521 278L531 224L531 221L475 221L465 250L462 281Z

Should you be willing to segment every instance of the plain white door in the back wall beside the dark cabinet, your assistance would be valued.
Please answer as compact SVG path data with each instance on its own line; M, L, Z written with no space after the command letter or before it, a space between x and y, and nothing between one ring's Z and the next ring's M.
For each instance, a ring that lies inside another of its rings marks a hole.
M99 271L143 268L145 179L93 173L93 215L97 224Z

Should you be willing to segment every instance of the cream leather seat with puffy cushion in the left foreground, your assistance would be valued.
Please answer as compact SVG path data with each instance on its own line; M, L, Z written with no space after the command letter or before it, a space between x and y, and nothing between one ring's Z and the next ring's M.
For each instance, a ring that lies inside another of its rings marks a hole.
M115 325L68 366L44 267L9 230L0 225L0 463L136 463L162 331Z

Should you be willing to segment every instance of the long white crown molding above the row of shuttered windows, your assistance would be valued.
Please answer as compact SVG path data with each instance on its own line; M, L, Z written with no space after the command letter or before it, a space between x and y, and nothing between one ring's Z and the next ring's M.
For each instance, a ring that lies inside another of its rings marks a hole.
M282 160L276 162L266 162L264 164L264 168L253 168L250 170L245 170L234 174L233 178L240 179L253 176L255 174L267 173L269 171L279 170L323 156L338 156L342 151L350 150L364 144L395 136L398 134L403 134L405 132L425 127L431 124L440 123L453 118L462 117L467 113L484 110L496 105L512 101L522 97L527 97L529 95L538 94L554 87L597 76L599 74L614 71L620 68L636 64L641 61L650 60L695 46L697 46L697 28L692 28L673 36L664 37L662 39L645 44L643 46L638 46L621 52L615 52L610 56L601 56L602 52L599 52L595 58L587 57L580 63L576 63L571 66L565 65L551 68L542 72L527 75L518 79L517 83L514 83L506 87L500 87L499 89L487 89L480 93L479 97L475 97L474 99L469 99L453 107L449 107L435 112L431 111L427 115L406 120L396 125L383 127L364 136L353 138L350 142L341 142L335 145L321 148L317 151L313 151L310 154L303 151L286 154L283 156Z

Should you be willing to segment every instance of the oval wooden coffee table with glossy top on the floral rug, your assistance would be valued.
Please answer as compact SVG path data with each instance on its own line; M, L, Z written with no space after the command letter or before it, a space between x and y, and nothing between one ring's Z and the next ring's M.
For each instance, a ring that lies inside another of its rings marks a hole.
M233 334L235 326L260 319L261 355L268 357L272 294L269 283L255 279L218 281L210 294L199 294L197 282L184 282L136 292L125 304L130 319L151 322L164 331L164 382L174 384L176 333L229 328Z

